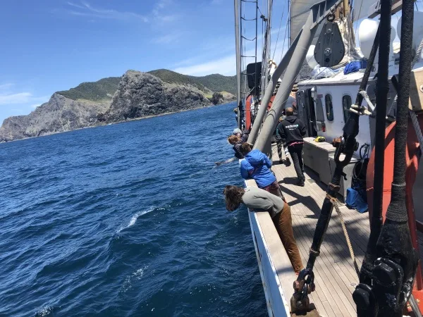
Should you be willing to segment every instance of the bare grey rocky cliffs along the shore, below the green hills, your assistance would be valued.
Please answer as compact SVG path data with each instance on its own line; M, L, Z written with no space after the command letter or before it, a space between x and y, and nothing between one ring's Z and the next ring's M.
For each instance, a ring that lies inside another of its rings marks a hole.
M68 98L71 96L64 97L57 92L47 103L37 107L28 116L15 116L4 120L0 128L0 142L157 116L212 104L197 87L169 84L154 75L135 70L128 70L121 77L117 88L113 98L110 99L110 94L104 94L97 100L73 100ZM109 99L105 99L106 97Z

